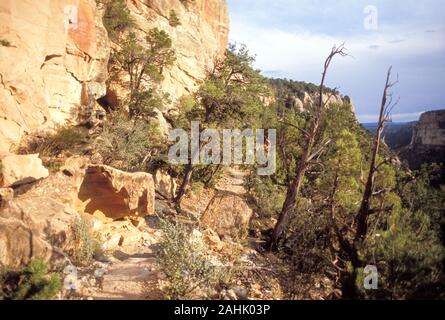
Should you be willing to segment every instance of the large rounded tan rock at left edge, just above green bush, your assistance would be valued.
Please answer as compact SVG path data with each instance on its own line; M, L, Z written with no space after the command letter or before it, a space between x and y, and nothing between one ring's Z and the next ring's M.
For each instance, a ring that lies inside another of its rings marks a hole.
M31 259L64 259L71 245L74 215L48 197L19 197L0 209L0 266L19 267Z

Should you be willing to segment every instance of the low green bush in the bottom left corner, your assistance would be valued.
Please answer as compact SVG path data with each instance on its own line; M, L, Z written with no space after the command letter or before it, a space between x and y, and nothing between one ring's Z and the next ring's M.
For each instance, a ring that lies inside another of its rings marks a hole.
M60 276L49 274L43 260L16 271L0 272L0 300L48 300L62 288Z

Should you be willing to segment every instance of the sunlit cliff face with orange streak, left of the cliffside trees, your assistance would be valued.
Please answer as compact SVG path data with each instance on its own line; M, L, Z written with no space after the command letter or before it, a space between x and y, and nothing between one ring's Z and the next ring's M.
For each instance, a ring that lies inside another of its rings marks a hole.
M0 152L95 117L110 46L94 0L1 1L0 35Z

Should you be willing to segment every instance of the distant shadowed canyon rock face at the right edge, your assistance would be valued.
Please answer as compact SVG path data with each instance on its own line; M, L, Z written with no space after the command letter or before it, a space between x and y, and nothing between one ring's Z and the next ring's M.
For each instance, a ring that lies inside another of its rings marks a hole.
M420 116L412 144L445 147L445 110L430 111Z

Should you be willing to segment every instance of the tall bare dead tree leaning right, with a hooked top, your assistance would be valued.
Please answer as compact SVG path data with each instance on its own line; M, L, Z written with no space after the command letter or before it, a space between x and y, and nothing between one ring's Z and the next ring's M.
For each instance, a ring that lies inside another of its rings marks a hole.
M324 108L326 104L329 102L329 99L326 102L323 102L324 83L331 61L336 55L340 56L347 55L345 52L344 45L341 45L339 47L334 47L329 56L326 58L320 83L318 101L312 110L312 120L310 129L308 131L303 129L300 130L303 133L305 139L303 142L304 151L303 154L301 155L299 165L295 173L295 177L290 181L290 184L287 188L286 199L284 201L283 207L278 217L278 221L273 231L272 243L271 243L272 247L275 247L278 244L279 240L283 236L284 231L289 225L290 219L292 217L293 208L300 194L300 189L304 180L304 176L306 174L306 170L310 165L311 160L317 157L326 147L326 143L324 142L321 143L321 145L317 148L316 140L319 133Z

